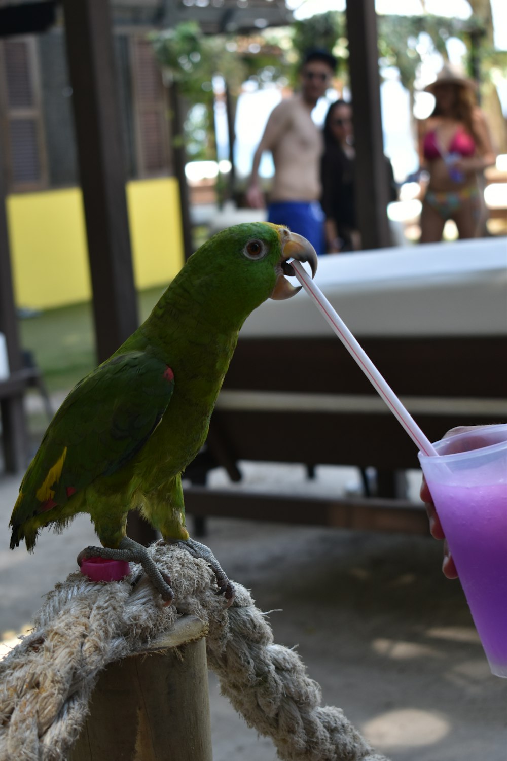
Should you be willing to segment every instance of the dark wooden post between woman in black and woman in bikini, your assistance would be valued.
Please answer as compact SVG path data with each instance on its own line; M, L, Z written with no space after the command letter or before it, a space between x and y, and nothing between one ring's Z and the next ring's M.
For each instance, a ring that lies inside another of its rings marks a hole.
M348 0L350 89L356 146L356 215L363 249L391 245L382 139L375 0Z

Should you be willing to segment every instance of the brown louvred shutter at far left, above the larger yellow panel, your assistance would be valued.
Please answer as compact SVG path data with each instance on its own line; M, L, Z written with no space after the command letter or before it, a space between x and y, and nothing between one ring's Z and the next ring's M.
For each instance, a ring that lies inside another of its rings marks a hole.
M18 38L0 43L0 64L2 148L7 156L8 188L39 188L46 184L46 162L35 41Z

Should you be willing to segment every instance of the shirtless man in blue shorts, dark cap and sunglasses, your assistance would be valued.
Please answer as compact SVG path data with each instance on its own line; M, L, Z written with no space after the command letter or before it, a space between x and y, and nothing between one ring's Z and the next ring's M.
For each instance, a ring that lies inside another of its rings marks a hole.
M252 209L263 209L258 167L264 151L271 151L274 180L268 221L287 224L304 235L317 253L324 253L320 158L322 132L312 121L312 110L328 89L336 60L325 50L307 53L299 72L301 92L282 100L271 111L264 135L255 151L246 200Z

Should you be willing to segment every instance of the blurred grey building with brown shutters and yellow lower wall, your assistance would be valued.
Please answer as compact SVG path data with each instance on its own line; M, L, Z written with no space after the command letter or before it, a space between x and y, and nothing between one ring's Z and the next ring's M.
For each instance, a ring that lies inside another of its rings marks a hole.
M147 288L171 279L183 260L169 110L147 32L190 19L207 33L241 32L287 23L289 13L284 0L110 5L135 280ZM38 33L17 33L46 17ZM16 301L27 307L90 298L71 99L59 4L0 0L0 150Z

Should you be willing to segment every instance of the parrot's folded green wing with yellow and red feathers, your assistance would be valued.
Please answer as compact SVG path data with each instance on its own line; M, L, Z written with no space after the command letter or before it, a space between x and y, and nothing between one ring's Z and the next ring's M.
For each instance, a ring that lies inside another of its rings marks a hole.
M11 517L16 527L65 505L98 476L138 452L166 411L173 371L146 352L116 355L80 381L46 431L21 482Z

